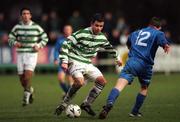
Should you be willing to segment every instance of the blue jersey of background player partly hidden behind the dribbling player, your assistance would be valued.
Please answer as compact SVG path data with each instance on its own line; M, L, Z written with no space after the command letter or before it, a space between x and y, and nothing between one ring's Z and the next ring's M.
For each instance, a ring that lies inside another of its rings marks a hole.
M59 37L57 39L56 44L55 44L55 49L54 49L54 60L59 59L59 54L60 54L60 51L61 51L61 47L62 47L62 44L63 44L63 42L65 40L66 40L66 38L64 36Z

